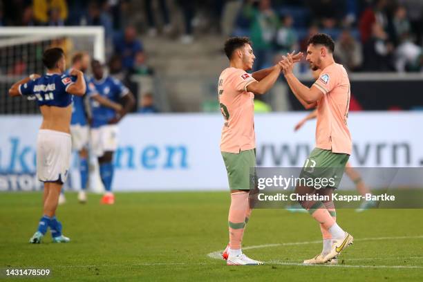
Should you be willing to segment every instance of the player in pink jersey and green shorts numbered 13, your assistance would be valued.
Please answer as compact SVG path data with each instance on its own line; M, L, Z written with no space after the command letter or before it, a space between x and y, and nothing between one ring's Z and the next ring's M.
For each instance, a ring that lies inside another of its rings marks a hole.
M336 221L335 205L329 199L341 182L348 158L352 151L350 131L347 126L350 104L350 81L345 68L333 59L335 43L326 34L310 37L307 61L312 71L320 70L319 79L311 88L302 84L292 73L294 60L288 54L281 61L283 74L292 93L306 109L317 107L316 148L310 153L301 171L301 178L332 179L332 185L315 189L297 186L299 203L319 222L323 235L323 251L305 264L337 263L337 256L353 243L353 236L345 232ZM335 180L335 181L333 181ZM319 200L324 198L325 200Z

